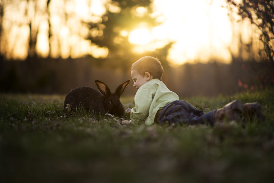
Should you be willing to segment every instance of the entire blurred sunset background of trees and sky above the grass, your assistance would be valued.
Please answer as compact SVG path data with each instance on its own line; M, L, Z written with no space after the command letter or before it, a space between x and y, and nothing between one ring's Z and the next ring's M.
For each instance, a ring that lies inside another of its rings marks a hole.
M274 1L0 0L0 92L111 91L130 66L161 60L179 96L274 85ZM123 95L134 95L133 82Z

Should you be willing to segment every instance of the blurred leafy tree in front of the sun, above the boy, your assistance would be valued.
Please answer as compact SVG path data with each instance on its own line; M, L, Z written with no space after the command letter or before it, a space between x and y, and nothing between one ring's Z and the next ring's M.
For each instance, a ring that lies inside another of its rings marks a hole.
M91 30L89 39L100 47L107 47L109 50L107 60L112 60L112 66L128 68L133 61L144 54L134 54L133 45L128 41L128 34L139 24L145 23L148 28L160 23L151 17L150 0L112 0L106 4L106 13L102 16L101 23L86 22ZM139 15L136 9L142 7L146 13ZM93 34L93 32L95 32ZM125 35L122 32L126 32ZM166 45L170 48L171 45ZM167 48L163 47L165 59ZM160 52L157 49L157 52ZM157 55L155 55L157 56ZM161 55L161 57L163 57ZM129 61L130 60L130 61Z

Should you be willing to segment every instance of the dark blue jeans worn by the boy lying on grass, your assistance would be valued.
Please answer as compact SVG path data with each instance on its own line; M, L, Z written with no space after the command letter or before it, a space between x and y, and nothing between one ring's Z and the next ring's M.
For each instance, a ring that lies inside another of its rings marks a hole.
M166 124L210 124L214 125L214 111L205 113L184 100L176 100L166 105L159 114L159 123Z

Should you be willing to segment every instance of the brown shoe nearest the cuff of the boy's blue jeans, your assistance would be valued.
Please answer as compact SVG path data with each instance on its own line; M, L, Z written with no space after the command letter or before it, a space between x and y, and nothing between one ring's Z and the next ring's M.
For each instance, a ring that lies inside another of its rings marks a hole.
M239 100L234 100L226 104L223 108L217 109L214 114L215 122L224 122L228 120L240 121L243 114L243 104Z

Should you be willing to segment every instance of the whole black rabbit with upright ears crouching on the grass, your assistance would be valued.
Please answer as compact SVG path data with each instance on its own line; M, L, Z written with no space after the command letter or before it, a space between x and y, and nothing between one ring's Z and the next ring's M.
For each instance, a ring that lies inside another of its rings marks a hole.
M95 80L95 83L101 93L87 86L75 88L67 94L64 100L64 108L69 107L75 111L82 105L87 109L92 109L95 113L111 113L119 117L124 115L125 109L120 102L120 96L130 80L120 84L115 93L111 93L108 86L102 81Z

